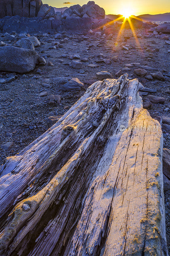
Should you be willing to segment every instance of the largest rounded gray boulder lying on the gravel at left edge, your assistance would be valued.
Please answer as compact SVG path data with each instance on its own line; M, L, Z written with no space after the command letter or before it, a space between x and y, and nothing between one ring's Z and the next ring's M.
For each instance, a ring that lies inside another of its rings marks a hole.
M25 73L39 63L39 55L30 49L14 46L0 47L0 70Z

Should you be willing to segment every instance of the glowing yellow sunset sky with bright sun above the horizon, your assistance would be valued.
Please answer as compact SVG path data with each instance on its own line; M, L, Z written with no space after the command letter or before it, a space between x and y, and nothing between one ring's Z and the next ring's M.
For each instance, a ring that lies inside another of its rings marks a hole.
M73 1L73 3L70 1L70 4L63 4L64 1L60 0L42 0L43 4L49 4L51 6L54 6L56 8L61 7L70 7L74 4L80 4L81 6L83 4L87 4L88 0L77 0L76 2ZM95 0L94 0L95 1ZM66 2L67 3L67 2ZM108 14L121 14L123 15L123 12L128 9L130 10L131 15L142 15L142 14L163 14L166 12L170 12L170 1L164 0L164 3L160 3L159 0L119 0L113 2L112 0L107 0L107 2L102 0L96 0L96 4L98 4L100 7L104 8L106 15Z

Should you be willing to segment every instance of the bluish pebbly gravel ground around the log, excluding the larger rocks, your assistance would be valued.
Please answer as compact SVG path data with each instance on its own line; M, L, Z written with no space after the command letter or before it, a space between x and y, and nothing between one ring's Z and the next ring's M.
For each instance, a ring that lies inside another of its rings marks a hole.
M48 129L47 118L49 116L63 115L84 94L87 87L97 81L96 73L99 71L108 71L116 78L117 71L125 68L127 64L133 63L130 70L122 71L122 74L128 73L130 78L138 78L144 87L157 90L156 93L150 94L166 99L164 104L152 104L152 108L148 109L151 115L170 116L170 94L167 92L170 89L169 46L165 44L164 40L148 38L144 29L136 29L136 34L141 34L141 37L139 35L137 39L129 29L123 30L118 39L117 32L118 30L115 30L113 36L106 36L106 38L67 32L67 34L63 34L63 38L67 37L68 42L62 44L63 48L57 49L50 48L52 47L51 42L54 41L54 35L38 36L40 42L44 42L44 44L36 47L36 51L45 57L47 62L51 61L54 66L37 66L36 69L24 76L16 74L18 78L15 81L0 85L0 144L11 142L9 151L0 148L1 164L4 163L5 157L14 156L45 132ZM125 35L131 37L127 42L124 42L123 36ZM55 39L55 41L60 40ZM0 37L0 41L10 43L3 36ZM128 51L122 50L122 43L130 46ZM158 50L155 50L156 48ZM63 54L69 56L79 54L80 60L82 58L88 60L82 61L81 69L75 69L69 66L71 57L64 58ZM100 57L97 57L99 54ZM117 56L116 61L111 60L114 56ZM98 63L101 59L109 59L111 63ZM88 67L91 63L97 64L98 67ZM148 71L148 74L160 71L165 77L165 81L156 79L149 81L136 76L133 70L142 66L155 68L155 71ZM10 72L0 72L0 75L4 76L8 73ZM84 88L79 92L63 92L60 90L62 85L58 84L55 79L58 76L77 77L84 83ZM42 85L43 79L49 79L46 83L50 84L52 88L45 88ZM39 94L43 91L46 91L47 95L40 97ZM54 106L48 104L51 94L61 96L60 104ZM163 134L164 148L170 148L170 131L163 131ZM165 209L167 244L170 252L170 191L165 192Z

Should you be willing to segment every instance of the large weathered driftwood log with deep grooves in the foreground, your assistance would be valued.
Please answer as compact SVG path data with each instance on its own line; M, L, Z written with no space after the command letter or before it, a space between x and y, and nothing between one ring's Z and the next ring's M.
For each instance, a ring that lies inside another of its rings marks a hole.
M92 84L0 169L0 255L167 256L160 124L137 79Z

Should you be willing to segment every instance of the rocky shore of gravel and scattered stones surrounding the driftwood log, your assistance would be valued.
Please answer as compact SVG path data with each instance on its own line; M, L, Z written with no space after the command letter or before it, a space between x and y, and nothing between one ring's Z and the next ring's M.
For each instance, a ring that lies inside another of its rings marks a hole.
M35 18L43 21L40 17ZM69 19L77 18L65 20ZM70 24L73 26L73 23ZM91 20L90 24L94 22ZM149 22L144 24L135 28L136 38L129 28L122 29L120 33L118 24L103 25L101 28L93 25L83 28L83 32L60 26L50 29L48 33L18 33L13 29L15 24L8 33L1 29L0 52L8 50L5 47L14 47L16 52L21 51L20 59L23 53L32 53L35 57L31 68L29 62L28 67L20 62L14 71L15 62L11 71L4 71L2 66L8 63L0 56L1 164L6 157L16 155L52 126L89 85L124 73L128 73L129 79L139 79L145 87L140 92L144 108L162 124L164 148L170 149L170 26L167 25L169 23L159 26ZM15 54L16 59L17 56ZM12 52L9 60L11 58L15 59ZM169 193L170 180L165 191L166 236L170 252Z

